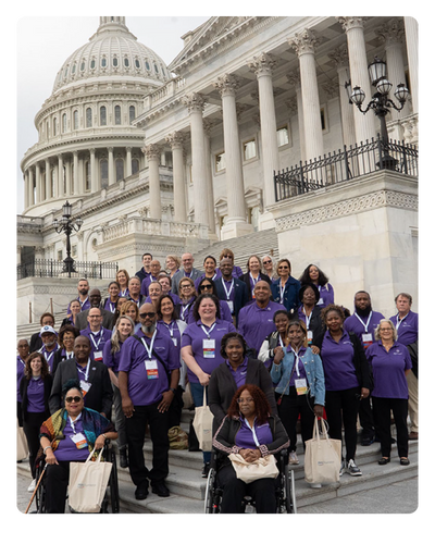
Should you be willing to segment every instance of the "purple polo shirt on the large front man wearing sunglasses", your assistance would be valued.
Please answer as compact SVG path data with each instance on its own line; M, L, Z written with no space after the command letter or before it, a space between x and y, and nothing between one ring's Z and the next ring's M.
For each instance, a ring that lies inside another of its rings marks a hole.
M170 335L159 329L156 330L151 355L148 353L151 349L151 338L145 336L142 331L136 334L139 341L129 336L123 344L119 370L128 373L128 395L132 403L135 406L149 406L159 403L162 393L169 390L166 371L179 368L179 357Z

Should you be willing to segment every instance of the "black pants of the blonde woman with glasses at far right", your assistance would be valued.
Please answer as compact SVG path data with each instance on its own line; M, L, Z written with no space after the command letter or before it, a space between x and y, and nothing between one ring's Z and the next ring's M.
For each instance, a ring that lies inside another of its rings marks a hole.
M397 429L397 450L399 457L408 457L408 399L372 397L372 400L374 424L381 441L382 456L389 457L391 453L390 410L393 410Z

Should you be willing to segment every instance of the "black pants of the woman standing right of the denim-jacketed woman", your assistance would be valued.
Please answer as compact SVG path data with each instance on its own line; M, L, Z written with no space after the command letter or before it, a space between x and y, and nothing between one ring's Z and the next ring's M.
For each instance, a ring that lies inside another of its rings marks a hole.
M355 459L357 452L357 416L361 387L343 391L326 391L325 409L330 425L330 437L341 440L341 421L345 426L346 460ZM343 420L341 420L343 415Z

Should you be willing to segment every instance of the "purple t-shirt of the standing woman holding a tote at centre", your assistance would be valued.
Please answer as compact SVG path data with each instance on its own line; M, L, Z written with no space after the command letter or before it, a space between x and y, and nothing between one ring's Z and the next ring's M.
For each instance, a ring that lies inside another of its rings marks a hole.
M236 327L228 321L216 319L210 327L203 325L201 320L198 320L196 323L188 325L184 331L182 347L191 346L197 363L206 373L211 374L221 362L224 362L220 353L222 337L227 333L235 332ZM204 341L214 341L214 344L204 344ZM198 376L189 368L187 369L187 375L189 376L189 382L199 383Z

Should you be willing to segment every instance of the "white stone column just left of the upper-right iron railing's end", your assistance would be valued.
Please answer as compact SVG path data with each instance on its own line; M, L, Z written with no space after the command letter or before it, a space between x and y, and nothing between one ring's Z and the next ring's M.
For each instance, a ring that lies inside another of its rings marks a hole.
M272 84L272 70L275 65L276 62L266 53L261 53L259 57L254 57L251 62L248 62L249 69L257 75L259 85L265 206L271 206L275 202L273 171L279 170L275 101Z

